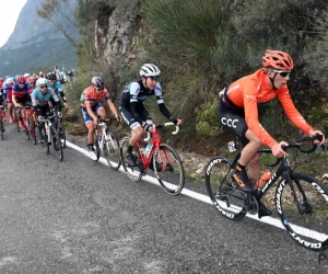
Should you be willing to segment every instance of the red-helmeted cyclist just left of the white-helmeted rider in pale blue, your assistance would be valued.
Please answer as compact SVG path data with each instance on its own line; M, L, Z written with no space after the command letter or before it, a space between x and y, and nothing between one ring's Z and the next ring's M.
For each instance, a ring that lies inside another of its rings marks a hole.
M21 110L23 106L25 107L31 105L31 85L25 82L25 77L17 76L16 83L14 83L12 87L12 102L16 110ZM20 127L21 129L24 129L22 121L20 121Z

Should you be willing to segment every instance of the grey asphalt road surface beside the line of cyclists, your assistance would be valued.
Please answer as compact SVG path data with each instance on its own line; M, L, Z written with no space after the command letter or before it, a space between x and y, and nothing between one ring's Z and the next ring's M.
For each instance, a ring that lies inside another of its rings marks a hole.
M328 273L280 228L225 219L71 148L59 162L5 126L0 273Z

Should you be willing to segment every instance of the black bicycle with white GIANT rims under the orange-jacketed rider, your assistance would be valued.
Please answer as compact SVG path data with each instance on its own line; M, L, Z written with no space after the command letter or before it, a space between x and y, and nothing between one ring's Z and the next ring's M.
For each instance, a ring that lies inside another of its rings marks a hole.
M282 146L284 151L294 148L295 151L308 153L317 146L313 144L315 138L305 137L290 141L289 146ZM304 141L312 141L311 149L303 149ZM324 148L324 147L323 147ZM262 196L278 182L274 201L276 209L283 227L289 235L301 246L311 250L325 250L328 248L328 190L317 179L301 172L294 172L288 157L278 158L274 163L266 163L267 167L276 167L271 178L266 184L257 189L255 194L242 192L232 180L232 172L241 157L237 151L233 162L224 157L214 157L206 168L206 185L208 194L215 208L226 218L238 220L247 213L260 216L258 203ZM259 153L271 153L271 149L260 149ZM296 156L295 156L296 158ZM250 206L246 201L250 198ZM314 201L315 198L315 201ZM302 221L302 218L303 221ZM305 228L304 226L307 226ZM318 231L314 231L314 230Z

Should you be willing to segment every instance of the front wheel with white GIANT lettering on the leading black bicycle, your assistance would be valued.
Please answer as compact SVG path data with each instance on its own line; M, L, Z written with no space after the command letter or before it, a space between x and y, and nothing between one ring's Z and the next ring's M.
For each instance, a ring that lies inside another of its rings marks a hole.
M301 246L328 249L328 190L315 178L291 173L294 192L285 179L276 190L276 207L282 225Z

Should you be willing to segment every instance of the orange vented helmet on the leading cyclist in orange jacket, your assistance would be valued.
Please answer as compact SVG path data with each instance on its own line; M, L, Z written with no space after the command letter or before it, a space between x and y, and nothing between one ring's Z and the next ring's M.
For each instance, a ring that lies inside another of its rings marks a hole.
M263 67L271 67L279 70L292 70L294 62L291 56L284 52L268 49L262 57Z

